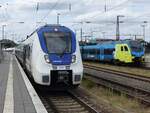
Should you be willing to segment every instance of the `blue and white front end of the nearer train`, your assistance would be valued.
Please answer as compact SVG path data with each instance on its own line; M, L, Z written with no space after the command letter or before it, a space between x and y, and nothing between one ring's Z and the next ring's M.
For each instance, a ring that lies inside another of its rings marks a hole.
M64 26L45 26L38 30L42 48L37 68L41 85L76 87L81 83L83 65L75 34Z

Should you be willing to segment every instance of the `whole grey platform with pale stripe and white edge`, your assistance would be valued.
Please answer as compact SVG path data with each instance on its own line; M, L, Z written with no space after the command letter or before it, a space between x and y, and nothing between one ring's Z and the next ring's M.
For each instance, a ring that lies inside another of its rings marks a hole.
M15 56L0 63L0 113L47 113Z

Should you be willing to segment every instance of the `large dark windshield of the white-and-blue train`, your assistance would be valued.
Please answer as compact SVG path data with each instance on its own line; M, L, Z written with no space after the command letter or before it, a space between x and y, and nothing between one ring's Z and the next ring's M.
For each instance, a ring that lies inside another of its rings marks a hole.
M62 32L44 33L46 46L49 53L71 53L71 34Z

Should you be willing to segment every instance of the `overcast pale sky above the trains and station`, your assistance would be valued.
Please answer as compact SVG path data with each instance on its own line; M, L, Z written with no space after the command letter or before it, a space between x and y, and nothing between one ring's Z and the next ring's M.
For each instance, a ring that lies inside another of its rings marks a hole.
M116 17L124 15L121 38L143 38L145 25L150 41L150 0L0 0L0 5L0 39L4 25L5 38L20 41L38 26L56 24L60 13L60 23L76 31L78 39L81 27L84 37L115 38Z

